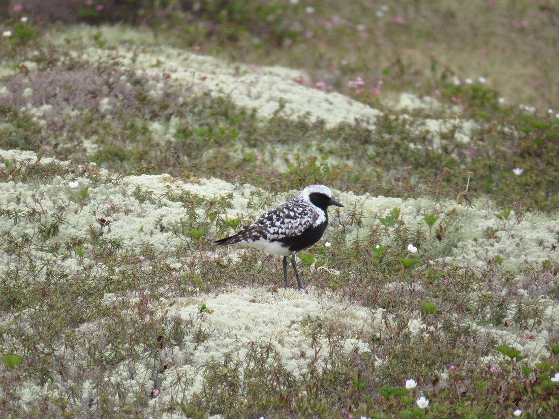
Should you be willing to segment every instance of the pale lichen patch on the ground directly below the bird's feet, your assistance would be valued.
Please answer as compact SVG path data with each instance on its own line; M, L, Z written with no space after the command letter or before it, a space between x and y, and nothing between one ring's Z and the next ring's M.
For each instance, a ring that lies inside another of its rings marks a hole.
M202 304L206 310L200 313ZM205 337L197 341L196 335L189 335L179 347L168 349L169 359L164 361L173 363L173 368L165 374L160 391L169 395L181 376L193 378L187 394L200 391L207 362L220 363L230 355L233 362L243 363L252 344L272 345L281 364L297 378L315 351L320 356L330 353L326 336L318 342L312 340L311 330L318 323L323 330L338 331L343 351L369 351L364 339L381 328L380 316L334 295L292 290L271 293L258 288L233 288L216 296L179 299L173 302L173 310L174 316L205 331Z

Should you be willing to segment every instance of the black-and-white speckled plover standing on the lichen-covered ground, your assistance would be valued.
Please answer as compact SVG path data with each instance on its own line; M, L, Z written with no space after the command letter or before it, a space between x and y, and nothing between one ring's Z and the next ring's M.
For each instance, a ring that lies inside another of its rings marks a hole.
M240 244L263 250L272 255L283 256L283 281L287 283L287 256L291 255L291 265L297 287L303 288L295 255L300 250L314 245L323 236L328 225L329 206L343 207L332 198L330 189L324 185L309 185L297 197L291 198L279 207L263 213L251 225L233 236L214 241L214 246Z

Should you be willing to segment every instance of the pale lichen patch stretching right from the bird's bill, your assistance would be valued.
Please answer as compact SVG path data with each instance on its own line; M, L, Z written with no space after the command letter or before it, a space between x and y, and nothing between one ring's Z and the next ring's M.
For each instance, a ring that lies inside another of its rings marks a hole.
M559 255L552 251L552 245L557 243L558 228L550 228L550 225L559 225L559 220L555 217L525 213L523 219L517 221L514 212L511 212L509 223L504 225L495 216L495 212L498 212L496 208L487 201L477 201L473 207L466 207L451 200L404 200L356 196L352 192L340 193L338 198L348 208L346 211L354 210L362 214L363 228L348 228L347 239L350 241L363 237L367 234L367 227L380 223L378 218L386 217L394 208L400 208L400 219L411 230L419 228L427 234L429 228L424 216L428 214L439 216L436 226L443 221L451 222L447 242L432 240L430 244L435 249L442 249L448 241L452 242L451 255L442 257L446 263L482 266L487 260L500 256L504 258L503 267L514 271L527 261L559 261ZM494 232L489 234L488 231Z

